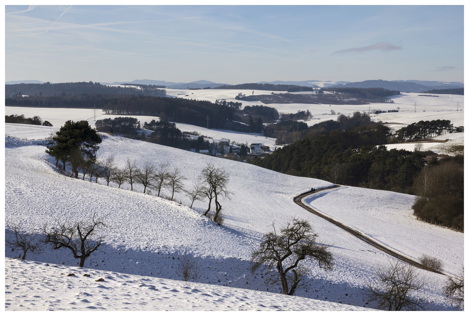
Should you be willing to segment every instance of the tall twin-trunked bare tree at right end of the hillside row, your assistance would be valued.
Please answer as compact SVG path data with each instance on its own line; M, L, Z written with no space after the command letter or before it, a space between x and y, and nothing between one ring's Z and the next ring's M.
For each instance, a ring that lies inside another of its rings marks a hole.
M207 162L207 166L202 170L200 179L205 182L207 186L206 195L209 197L209 207L204 215L207 216L210 211L212 198L215 198L215 212L213 220L217 222L217 218L221 212L221 204L219 199L229 198L231 192L227 190L229 175L222 167L216 167L214 164ZM212 197L213 196L213 197ZM212 198L211 198L212 197Z

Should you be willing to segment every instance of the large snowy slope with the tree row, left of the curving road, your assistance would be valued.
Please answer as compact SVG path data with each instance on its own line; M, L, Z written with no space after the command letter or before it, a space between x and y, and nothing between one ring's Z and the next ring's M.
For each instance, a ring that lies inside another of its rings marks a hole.
M31 128L28 138L35 134L38 134L36 128ZM311 187L330 186L326 181L275 173L249 164L117 136L103 139L98 158L113 155L121 166L127 158L136 159L140 166L146 160L166 162L182 169L189 178L188 185L197 178L206 161L226 168L231 176L228 189L234 194L231 200L222 201L226 220L224 226L216 226L200 216L206 203L195 203L195 210L191 210L175 202L144 195L138 186L132 192L106 187L102 181L95 184L61 175L54 171L53 159L45 154L45 146L40 143L6 137L6 218L14 215L41 227L45 222L51 223L52 218L78 220L95 211L106 217L111 229L105 245L87 259L85 268L180 279L175 273L175 263L179 255L188 252L199 257L202 263L202 277L197 282L279 293L279 287L265 284L260 273L250 275L250 253L262 234L271 230L272 221L282 226L296 216L308 219L319 240L333 245L331 250L336 259L334 270L328 273L308 263L312 269L312 286L308 290L299 288L296 294L363 306L360 288L374 278L373 269L389 259L388 255L293 202L294 196ZM176 198L188 203L182 195ZM377 201L375 208L381 206ZM6 256L17 254L7 248ZM77 265L77 260L67 251L48 249L40 255L29 254L27 259ZM429 280L425 292L433 301L431 308L452 309L441 293L445 276L429 271L420 273Z

